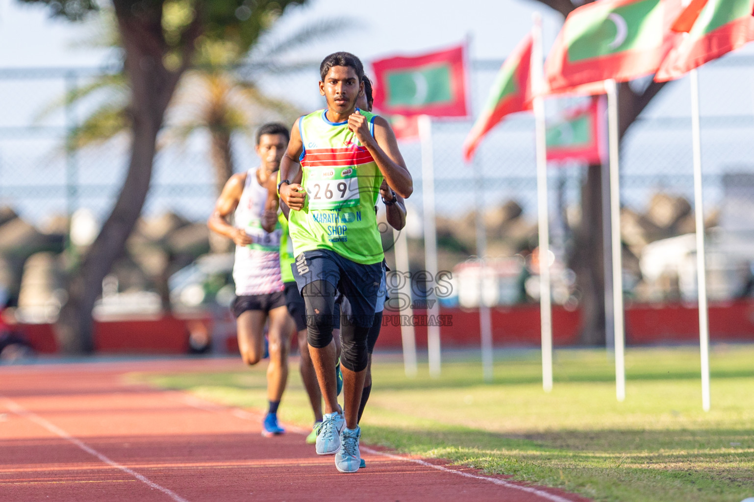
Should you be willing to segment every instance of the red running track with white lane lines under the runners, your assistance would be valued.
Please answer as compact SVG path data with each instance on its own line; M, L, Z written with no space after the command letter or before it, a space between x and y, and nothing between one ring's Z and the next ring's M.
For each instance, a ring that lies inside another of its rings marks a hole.
M263 438L259 412L123 378L233 369L230 360L0 368L0 500L587 500L368 445L366 469L341 474L305 444L308 431Z

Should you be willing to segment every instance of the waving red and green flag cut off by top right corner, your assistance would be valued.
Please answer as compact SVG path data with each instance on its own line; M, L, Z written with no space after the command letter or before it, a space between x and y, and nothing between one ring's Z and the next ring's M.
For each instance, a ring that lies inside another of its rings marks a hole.
M754 0L692 0L672 29L686 32L654 80L679 78L691 69L754 40Z

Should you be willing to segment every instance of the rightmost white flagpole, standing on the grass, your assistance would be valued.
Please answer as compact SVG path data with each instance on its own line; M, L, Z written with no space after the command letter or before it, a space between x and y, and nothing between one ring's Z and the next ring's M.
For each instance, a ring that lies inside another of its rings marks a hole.
M699 295L699 348L702 360L702 409L710 411L710 320L706 302L704 265L704 208L702 203L702 146L699 119L699 74L691 70L691 138L694 143L694 219L697 226L697 290Z

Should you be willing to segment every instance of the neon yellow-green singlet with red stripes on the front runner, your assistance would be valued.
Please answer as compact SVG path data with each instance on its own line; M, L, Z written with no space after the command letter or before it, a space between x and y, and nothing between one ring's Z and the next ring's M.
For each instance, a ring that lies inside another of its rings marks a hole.
M376 115L359 112L374 134ZM290 212L289 230L296 256L311 249L332 249L352 262L382 262L382 240L374 207L382 173L369 151L348 129L330 122L326 110L299 120L303 152L304 207Z

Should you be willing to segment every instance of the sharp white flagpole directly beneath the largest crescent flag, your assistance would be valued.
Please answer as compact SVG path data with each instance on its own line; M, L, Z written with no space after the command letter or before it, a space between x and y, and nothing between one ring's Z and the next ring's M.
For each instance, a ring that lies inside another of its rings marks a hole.
M626 366L624 361L623 263L621 249L621 179L618 144L618 86L615 80L605 81L608 94L608 141L610 146L610 226L612 236L613 328L615 335L615 396L626 399Z

